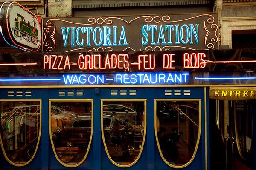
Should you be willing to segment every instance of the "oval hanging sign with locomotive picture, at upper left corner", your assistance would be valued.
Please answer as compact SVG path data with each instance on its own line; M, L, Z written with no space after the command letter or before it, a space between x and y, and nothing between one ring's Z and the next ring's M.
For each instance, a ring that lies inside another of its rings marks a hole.
M17 2L8 3L1 18L3 36L7 43L26 51L38 51L41 26L32 12Z

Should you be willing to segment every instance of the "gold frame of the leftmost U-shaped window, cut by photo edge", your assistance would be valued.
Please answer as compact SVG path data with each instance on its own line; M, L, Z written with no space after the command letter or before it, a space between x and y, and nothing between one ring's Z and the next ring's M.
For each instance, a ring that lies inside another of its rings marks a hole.
M38 142L36 144L36 147L35 147L35 153L33 154L32 158L29 159L29 161L27 161L26 163L23 163L23 164L16 164L14 162L12 162L6 155L6 152L3 148L3 141L2 141L2 134L1 134L1 130L0 130L0 144L1 144L1 148L2 148L2 151L3 151L3 156L5 157L5 159L10 163L12 164L13 166L15 167L23 167L23 166L26 166L27 164L29 164L35 157L36 153L37 153L37 150L38 150L38 146L39 146L39 143L40 143L40 138L41 138L41 129L42 129L42 100L41 99L0 99L0 102L19 102L19 101L22 101L22 102L39 102L39 105L40 105L40 122L39 122L39 134L38 134Z

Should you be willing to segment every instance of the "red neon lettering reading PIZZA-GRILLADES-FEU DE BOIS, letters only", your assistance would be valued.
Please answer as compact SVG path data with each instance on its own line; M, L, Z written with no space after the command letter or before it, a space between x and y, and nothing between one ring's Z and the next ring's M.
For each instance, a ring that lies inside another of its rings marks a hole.
M163 54L158 56L163 58L162 68L175 69L174 57L175 54ZM204 53L184 53L183 54L183 68L204 68L207 61L204 60L206 54ZM69 56L62 55L44 55L44 70L70 70L71 65L76 65L80 70L125 70L129 71L130 66L140 70L154 70L156 68L155 54L140 54L134 62L129 61L128 54L79 54L77 62L71 62Z

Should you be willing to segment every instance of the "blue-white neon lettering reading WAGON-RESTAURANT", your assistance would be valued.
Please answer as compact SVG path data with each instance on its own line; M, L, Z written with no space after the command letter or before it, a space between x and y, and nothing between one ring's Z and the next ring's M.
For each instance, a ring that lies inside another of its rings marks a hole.
M170 85L186 84L189 73L63 74L65 85Z

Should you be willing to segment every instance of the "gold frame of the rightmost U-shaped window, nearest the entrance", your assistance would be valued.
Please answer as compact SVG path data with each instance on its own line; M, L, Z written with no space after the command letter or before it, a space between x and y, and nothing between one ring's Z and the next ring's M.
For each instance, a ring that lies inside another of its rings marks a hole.
M161 151L160 144L159 144L159 139L158 139L158 136L157 136L157 102L159 102L159 101L199 101L199 106L198 106L198 109L199 109L198 110L198 112L199 112L198 113L198 115L199 115L199 118L198 118L199 119L198 120L199 125L198 125L197 142L196 142L196 145L195 145L194 153L193 153L191 159L186 164L183 164L183 165L180 165L180 166L170 164L168 161L166 161L166 159L163 156L163 153ZM196 156L196 153L197 153L197 150L198 150L198 145L199 145L199 142L200 142L200 137L201 137L201 99L154 99L154 131L155 131L155 137L156 137L158 151L159 151L160 156L163 159L163 161L169 167L172 167L172 168L180 169L180 168L187 167L194 160L194 158Z

